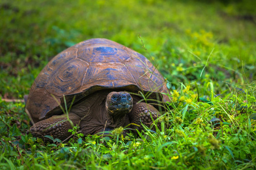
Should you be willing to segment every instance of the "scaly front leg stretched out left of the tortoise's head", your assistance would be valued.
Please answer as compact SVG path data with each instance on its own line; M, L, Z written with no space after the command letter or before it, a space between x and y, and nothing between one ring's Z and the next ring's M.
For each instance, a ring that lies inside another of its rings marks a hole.
M68 117L73 122L74 126L79 125L79 116L69 113ZM71 135L71 133L68 132L69 129L72 129L72 125L67 120L67 116L63 114L36 122L31 126L30 131L33 137L42 138L44 141L49 141L48 138L44 138L45 135L51 135L54 139L57 138L63 141Z

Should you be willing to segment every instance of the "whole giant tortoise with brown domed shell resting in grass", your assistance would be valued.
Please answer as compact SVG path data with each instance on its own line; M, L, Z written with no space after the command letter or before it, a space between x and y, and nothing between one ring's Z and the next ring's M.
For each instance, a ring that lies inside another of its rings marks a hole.
M170 101L163 76L142 54L107 39L82 41L52 58L32 84L25 108L34 124L30 131L63 140L72 123L84 135L130 123L150 127L159 108L136 95L139 91ZM70 108L72 122L61 108Z

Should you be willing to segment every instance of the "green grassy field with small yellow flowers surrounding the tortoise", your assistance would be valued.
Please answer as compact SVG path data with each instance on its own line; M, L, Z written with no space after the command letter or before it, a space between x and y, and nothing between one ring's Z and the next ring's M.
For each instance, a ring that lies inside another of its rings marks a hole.
M252 1L0 2L0 169L255 169ZM146 56L173 99L166 124L135 136L44 143L23 99L57 53L106 38ZM170 128L166 128L168 126Z

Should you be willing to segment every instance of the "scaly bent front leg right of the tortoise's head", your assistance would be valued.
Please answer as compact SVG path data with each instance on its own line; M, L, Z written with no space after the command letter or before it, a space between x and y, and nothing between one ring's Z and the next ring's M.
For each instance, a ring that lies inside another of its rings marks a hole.
M152 105L147 103L135 104L129 114L131 123L134 123L137 125L141 125L142 123L146 125L148 128L150 128L150 125L153 122L151 116L153 120L156 120L160 116L160 113L156 108L154 108ZM160 124L158 123L158 126L159 125ZM143 130L142 126L138 127L133 125L133 128L138 129L139 131ZM155 130L155 127L153 127L152 130Z

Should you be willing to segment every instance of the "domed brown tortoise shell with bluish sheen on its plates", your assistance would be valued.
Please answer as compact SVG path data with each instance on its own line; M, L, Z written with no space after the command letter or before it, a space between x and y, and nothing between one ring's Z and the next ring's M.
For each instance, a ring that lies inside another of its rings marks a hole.
M168 93L163 76L146 57L107 39L86 40L57 54L44 67L31 87L26 112L38 122L63 114L59 104L64 106L64 95L69 106L74 96L77 103L93 92L115 88Z

